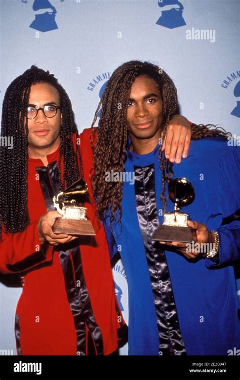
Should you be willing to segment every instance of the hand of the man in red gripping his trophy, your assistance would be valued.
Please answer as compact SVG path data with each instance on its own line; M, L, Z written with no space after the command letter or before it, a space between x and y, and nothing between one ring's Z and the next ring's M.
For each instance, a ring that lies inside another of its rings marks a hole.
M41 244L43 244L45 241L48 241L50 244L58 245L68 243L69 241L78 238L78 236L55 234L53 232L52 226L58 217L61 217L61 215L56 210L54 210L48 211L39 219L39 222L37 224L37 231Z

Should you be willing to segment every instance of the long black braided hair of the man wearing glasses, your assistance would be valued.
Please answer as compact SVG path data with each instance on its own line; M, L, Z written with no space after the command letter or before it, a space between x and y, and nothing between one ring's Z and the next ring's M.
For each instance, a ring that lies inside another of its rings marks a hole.
M26 110L30 88L35 83L49 83L59 93L61 109L59 185L63 190L74 181L83 177L83 167L79 145L72 142L72 135L78 134L74 121L71 101L49 71L31 66L12 81L8 87L2 113L2 140L13 138L13 149L0 148L0 238L2 226L6 233L22 232L29 224L27 209L28 174L28 128ZM3 145L3 144L2 144ZM63 181L61 164L63 161ZM79 162L79 163L78 163Z

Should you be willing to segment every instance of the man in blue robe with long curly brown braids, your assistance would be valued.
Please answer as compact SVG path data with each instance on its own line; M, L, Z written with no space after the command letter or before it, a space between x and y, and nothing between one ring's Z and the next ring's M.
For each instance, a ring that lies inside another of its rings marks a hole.
M188 157L178 165L166 158L161 142L177 112L177 91L147 62L118 67L100 105L92 183L111 256L118 248L128 278L129 354L228 355L240 348L240 223L223 223L240 208L239 148L227 144L226 133L193 124ZM109 172L125 179L106 181ZM151 239L163 212L173 210L166 186L173 177L194 187L184 212L195 247L214 247L207 255Z

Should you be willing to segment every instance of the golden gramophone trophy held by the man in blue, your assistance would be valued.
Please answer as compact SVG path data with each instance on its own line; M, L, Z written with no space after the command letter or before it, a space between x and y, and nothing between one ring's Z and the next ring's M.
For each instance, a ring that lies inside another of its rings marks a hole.
M174 203L174 212L164 214L164 223L157 227L152 240L191 243L193 238L191 229L187 226L188 214L179 211L183 206L193 202L195 198L193 186L186 178L176 178L169 182L168 193Z

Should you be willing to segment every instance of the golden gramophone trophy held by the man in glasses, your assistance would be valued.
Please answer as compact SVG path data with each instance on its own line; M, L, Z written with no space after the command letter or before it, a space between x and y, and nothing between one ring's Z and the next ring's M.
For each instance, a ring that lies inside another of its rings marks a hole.
M92 223L86 218L87 208L78 205L86 195L88 187L82 178L53 197L54 207L61 214L53 225L55 234L96 235Z

